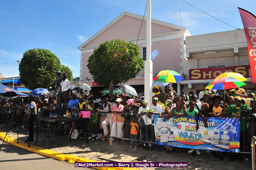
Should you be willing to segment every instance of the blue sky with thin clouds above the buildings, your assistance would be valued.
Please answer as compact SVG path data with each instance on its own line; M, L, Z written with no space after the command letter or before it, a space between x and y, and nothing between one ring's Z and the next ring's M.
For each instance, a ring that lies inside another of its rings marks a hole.
M210 15L243 28L237 7L256 15L255 0L186 0ZM49 49L79 77L80 51L85 40L122 12L143 16L146 0L3 0L0 5L0 73L12 77L14 62L32 48ZM192 35L234 30L182 0L152 0L151 18L186 27ZM146 14L145 14L146 16ZM139 33L139 30L138 30ZM15 67L15 76L18 66Z

